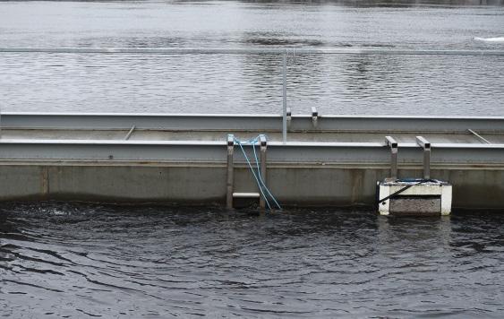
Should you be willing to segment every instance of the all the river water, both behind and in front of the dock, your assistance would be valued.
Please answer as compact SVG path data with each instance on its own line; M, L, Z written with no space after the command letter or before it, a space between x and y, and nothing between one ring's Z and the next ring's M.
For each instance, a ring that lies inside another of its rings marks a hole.
M495 5L493 5L495 4ZM502 2L0 2L0 47L504 49ZM276 56L0 55L2 111L279 113ZM504 116L504 58L297 56L295 114ZM495 317L504 215L0 204L0 316Z

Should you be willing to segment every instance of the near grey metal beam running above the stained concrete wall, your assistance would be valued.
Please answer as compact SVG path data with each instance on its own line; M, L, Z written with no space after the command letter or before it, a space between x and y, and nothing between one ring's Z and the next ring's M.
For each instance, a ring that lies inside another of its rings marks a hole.
M259 151L259 145L256 146ZM399 143L398 163L421 164L423 149L416 143ZM252 147L245 146L253 158ZM149 162L218 162L227 159L227 142L200 141L83 141L2 140L0 160L91 160ZM269 142L270 163L389 165L389 147L380 142ZM240 155L236 162L244 162ZM504 144L432 143L431 163L504 166ZM480 167L481 168L481 167Z

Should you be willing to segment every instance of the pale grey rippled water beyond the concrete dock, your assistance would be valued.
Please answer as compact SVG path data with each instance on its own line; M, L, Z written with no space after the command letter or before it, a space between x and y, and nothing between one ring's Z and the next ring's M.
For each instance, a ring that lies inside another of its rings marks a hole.
M483 5L480 5L483 4ZM0 47L497 49L495 1L0 2ZM0 55L5 111L280 113L275 56ZM504 116L504 57L298 56L295 114Z

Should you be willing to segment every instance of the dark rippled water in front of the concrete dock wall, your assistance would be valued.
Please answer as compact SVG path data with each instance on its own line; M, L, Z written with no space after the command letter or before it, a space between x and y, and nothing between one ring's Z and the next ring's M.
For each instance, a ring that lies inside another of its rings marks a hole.
M10 317L502 317L504 215L0 208Z

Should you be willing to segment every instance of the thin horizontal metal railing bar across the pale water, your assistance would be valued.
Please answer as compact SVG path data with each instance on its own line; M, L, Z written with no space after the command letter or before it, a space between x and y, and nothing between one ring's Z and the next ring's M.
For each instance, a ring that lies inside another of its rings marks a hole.
M418 50L395 48L220 48L220 47L0 47L0 53L72 53L72 54L261 54L281 55L389 55L389 56L504 56L503 50Z

